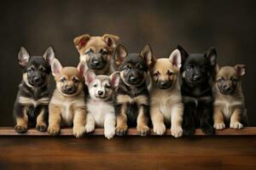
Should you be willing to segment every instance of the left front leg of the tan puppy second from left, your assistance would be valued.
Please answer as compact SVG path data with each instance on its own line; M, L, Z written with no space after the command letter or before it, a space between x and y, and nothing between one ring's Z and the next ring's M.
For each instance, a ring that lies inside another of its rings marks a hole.
M61 106L49 104L49 135L61 133Z

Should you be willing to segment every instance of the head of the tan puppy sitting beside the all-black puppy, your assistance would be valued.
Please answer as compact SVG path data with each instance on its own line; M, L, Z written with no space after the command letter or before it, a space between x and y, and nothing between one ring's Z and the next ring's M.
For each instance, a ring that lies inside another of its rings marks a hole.
M151 80L160 89L172 88L177 82L181 67L181 54L175 49L169 59L157 59L150 70Z

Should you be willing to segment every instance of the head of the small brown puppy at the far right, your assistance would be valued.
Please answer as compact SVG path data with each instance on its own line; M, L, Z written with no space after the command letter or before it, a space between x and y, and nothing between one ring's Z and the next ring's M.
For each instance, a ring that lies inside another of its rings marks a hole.
M224 66L218 70L216 85L220 93L232 95L241 86L241 77L245 75L246 65Z

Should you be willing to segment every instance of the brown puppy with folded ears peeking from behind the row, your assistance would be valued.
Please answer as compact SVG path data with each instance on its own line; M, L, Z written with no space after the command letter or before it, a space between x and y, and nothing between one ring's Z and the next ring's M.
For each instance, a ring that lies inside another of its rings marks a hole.
M88 34L75 37L73 42L80 54L80 61L96 75L110 75L110 59L119 37L105 34L102 37L90 37Z

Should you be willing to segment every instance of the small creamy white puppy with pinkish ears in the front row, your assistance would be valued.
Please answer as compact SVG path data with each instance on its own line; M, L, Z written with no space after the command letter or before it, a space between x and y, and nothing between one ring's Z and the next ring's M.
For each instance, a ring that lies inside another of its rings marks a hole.
M112 95L119 84L119 75L115 72L109 77L96 76L93 71L87 71L85 84L90 94L87 103L86 132L93 132L95 127L104 127L105 137L112 139L116 124Z

